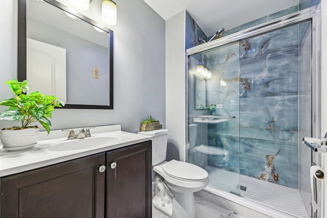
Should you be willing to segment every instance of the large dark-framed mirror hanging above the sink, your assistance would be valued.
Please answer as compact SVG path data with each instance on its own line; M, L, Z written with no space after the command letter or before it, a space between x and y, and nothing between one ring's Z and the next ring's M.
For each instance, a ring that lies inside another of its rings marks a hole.
M18 0L18 81L64 108L113 109L113 32L54 0Z

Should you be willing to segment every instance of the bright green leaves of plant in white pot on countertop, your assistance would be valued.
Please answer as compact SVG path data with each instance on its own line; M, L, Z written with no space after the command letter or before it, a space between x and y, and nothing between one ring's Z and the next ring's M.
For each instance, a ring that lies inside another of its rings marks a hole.
M49 134L51 126L49 118L52 118L52 111L55 107L64 106L65 103L54 95L41 94L39 91L26 94L29 89L28 83L28 80L18 82L16 79L5 82L16 96L0 101L0 105L9 107L0 113L0 119L20 120L21 127L14 129L31 128L29 126L31 123L39 122Z

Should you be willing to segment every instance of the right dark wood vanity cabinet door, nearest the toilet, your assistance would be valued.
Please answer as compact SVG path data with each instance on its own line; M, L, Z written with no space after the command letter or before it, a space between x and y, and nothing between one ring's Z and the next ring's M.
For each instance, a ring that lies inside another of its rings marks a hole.
M151 217L151 141L107 153L107 218Z

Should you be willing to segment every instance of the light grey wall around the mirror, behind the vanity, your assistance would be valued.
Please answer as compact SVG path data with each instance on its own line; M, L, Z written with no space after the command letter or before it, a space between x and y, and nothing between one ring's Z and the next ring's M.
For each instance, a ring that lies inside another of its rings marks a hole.
M61 0L61 2L68 0ZM101 0L94 0L85 15L101 22ZM141 121L152 115L166 126L165 20L144 1L116 0L117 25L113 30L113 110L55 109L52 130L122 124L139 131ZM0 98L12 98L4 81L17 78L17 1L0 5ZM8 107L1 107L1 111ZM1 128L19 125L1 120ZM39 125L40 126L40 125Z

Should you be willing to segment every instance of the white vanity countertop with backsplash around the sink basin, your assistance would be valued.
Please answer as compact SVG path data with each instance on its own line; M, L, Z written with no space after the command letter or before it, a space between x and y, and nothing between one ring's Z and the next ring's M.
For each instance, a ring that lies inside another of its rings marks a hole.
M82 128L74 129L76 133ZM151 136L123 132L121 125L103 126L90 129L92 136L122 136L118 142L106 144L105 146L92 147L79 150L68 151L51 151L49 147L60 141L66 141L68 131L53 130L46 136L46 132L40 132L39 140L35 146L23 151L6 151L2 147L0 149L0 177L8 176L31 169L60 163L92 154L110 151L131 144L152 140ZM91 136L91 137L92 137ZM83 139L73 139L83 140ZM0 146L2 144L0 143Z

